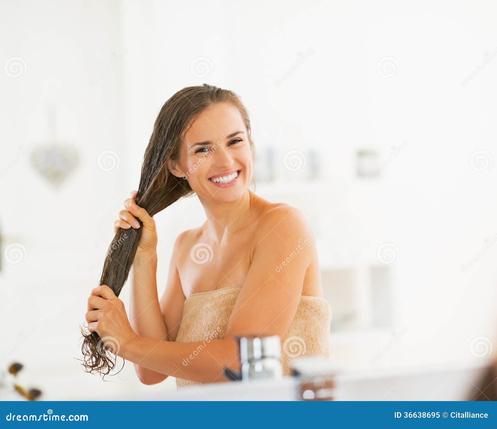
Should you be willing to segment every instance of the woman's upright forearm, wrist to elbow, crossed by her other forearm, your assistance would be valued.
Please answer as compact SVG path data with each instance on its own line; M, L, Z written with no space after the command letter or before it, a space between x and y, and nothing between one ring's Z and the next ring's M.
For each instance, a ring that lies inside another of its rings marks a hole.
M157 254L136 255L131 272L130 324L138 336L167 339L167 330L157 294ZM137 375L145 384L155 384L167 376L141 365Z

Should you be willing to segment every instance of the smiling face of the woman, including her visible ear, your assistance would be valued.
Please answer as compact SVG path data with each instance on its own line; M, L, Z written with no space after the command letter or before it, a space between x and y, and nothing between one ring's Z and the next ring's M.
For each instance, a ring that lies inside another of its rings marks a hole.
M253 162L238 109L215 103L204 111L186 132L178 162L169 165L175 176L186 175L199 197L224 203L241 198L252 180Z

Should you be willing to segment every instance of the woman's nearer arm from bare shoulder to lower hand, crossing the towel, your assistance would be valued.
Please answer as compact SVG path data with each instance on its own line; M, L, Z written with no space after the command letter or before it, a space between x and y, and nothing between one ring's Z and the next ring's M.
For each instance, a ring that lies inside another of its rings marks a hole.
M181 343L139 337L129 326L125 312L123 316L124 308L113 313L114 319L121 320L114 320L111 326L112 318L108 317L103 324L107 329L101 329L102 332L97 325L101 320L89 323L88 329L96 329L100 337L118 335L122 343L117 355L140 366L200 383L225 381L223 367L238 369L238 345L232 335L256 333L280 338L286 335L300 301L305 273L316 251L314 235L304 215L290 206L280 206L265 214L254 240L247 279L224 339ZM101 286L100 290L102 299L119 301L107 286ZM195 351L197 354L193 355Z

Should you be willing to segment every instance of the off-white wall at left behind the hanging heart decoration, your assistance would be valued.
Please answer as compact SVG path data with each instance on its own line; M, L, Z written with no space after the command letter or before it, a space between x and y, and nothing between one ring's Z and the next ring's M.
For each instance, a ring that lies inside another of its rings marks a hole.
M22 362L21 381L41 388L45 399L112 397L122 384L84 373L75 359L82 356L86 299L98 285L99 270L89 267L105 255L127 192L122 61L95 79L123 49L121 13L117 1L9 1L1 7L2 65L15 56L27 66L20 77L0 75L7 101L0 107L2 168L19 145L34 143L34 150L50 143L51 104L57 106L57 140L80 155L59 189L33 170L28 156L0 180L2 252L11 242L27 251L22 263L2 260L0 350L3 355L13 347L6 361ZM119 153L117 169L98 168L102 150ZM136 378L130 370L128 363L114 379Z

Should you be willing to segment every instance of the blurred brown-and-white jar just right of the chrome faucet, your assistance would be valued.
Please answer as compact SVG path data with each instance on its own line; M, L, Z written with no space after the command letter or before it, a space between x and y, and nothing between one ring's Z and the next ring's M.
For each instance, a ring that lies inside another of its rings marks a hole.
M291 361L300 401L333 401L338 367L323 357L299 357Z

